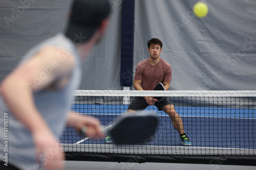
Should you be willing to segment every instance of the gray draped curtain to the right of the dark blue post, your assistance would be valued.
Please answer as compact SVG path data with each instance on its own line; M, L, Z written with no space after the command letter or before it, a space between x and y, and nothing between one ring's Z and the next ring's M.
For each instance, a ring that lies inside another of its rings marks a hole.
M193 14L197 2L136 0L134 66L156 37L173 68L170 90L256 90L256 1L204 1L205 18Z

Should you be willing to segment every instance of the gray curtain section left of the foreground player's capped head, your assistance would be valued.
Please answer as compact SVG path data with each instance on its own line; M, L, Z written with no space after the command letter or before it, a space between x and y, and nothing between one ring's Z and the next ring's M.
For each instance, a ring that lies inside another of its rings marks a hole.
M35 44L62 30L69 1L0 1L0 81Z

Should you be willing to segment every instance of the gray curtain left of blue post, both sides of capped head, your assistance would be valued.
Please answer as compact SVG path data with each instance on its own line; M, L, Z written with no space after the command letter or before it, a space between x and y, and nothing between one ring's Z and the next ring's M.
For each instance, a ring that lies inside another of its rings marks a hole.
M0 0L0 81L35 44L62 32L72 0ZM80 89L121 89L121 0L110 0L105 37L83 64Z

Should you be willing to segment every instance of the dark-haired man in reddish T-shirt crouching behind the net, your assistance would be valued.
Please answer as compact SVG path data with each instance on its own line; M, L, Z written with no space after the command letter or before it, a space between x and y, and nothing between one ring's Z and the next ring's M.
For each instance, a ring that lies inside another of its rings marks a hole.
M134 88L135 90L153 90L158 83L162 83L166 90L170 87L172 80L172 67L169 63L160 58L163 43L157 38L153 38L147 42L148 53L150 58L141 61L135 71ZM163 110L172 118L174 128L180 134L181 144L191 145L187 135L184 132L183 122L179 114L175 111L173 103L169 98L162 101L150 96L136 97L130 104L127 112L144 110L149 105L155 105L159 110ZM112 142L111 136L105 138L106 143Z

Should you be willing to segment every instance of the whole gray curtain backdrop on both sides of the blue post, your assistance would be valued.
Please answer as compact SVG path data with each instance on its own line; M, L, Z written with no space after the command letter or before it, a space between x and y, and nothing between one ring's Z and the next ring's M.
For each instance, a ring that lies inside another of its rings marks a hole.
M129 1L129 0L124 0ZM121 0L111 25L83 64L80 89L120 90ZM148 58L147 40L163 41L173 68L170 90L256 90L256 1L136 0L134 72ZM0 81L33 45L63 30L70 0L0 0ZM133 88L132 88L133 89Z

